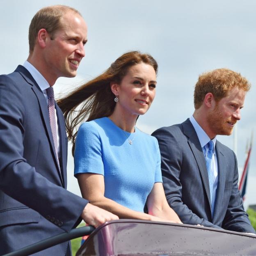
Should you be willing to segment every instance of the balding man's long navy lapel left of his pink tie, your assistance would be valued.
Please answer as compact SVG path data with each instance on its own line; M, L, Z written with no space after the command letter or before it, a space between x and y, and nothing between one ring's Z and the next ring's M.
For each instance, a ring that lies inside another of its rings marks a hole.
M59 167L58 167L58 163L57 163L57 157L56 157L56 154L55 154L55 147L54 147L54 142L53 142L52 130L51 130L51 127L50 127L50 117L49 117L49 112L48 112L48 106L47 106L47 103L46 103L46 98L43 95L43 92L41 91L40 87L37 85L37 82L34 80L32 75L27 71L27 69L25 69L23 66L19 65L17 67L16 71L21 73L23 78L30 85L32 85L32 90L34 91L34 94L37 96L37 100L38 100L39 107L40 107L42 117L43 117L43 123L45 124L46 133L47 133L48 139L50 141L50 146L51 146L51 149L52 149L53 159L54 159L56 168L58 170ZM58 171L58 174L59 174L60 180L62 181L62 175L59 173L59 171ZM63 181L62 181L62 185L64 185Z

